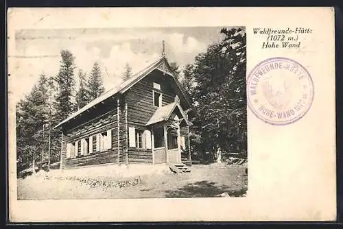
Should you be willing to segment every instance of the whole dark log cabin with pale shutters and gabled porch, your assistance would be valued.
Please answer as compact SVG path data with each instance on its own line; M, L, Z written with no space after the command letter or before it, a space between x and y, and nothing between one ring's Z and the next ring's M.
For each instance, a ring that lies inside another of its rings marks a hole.
M54 127L62 128L61 168L185 162L194 115L163 56Z

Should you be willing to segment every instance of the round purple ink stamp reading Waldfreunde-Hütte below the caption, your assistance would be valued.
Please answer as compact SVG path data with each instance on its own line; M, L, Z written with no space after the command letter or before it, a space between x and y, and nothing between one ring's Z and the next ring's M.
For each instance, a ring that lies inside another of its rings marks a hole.
M250 110L272 125L287 125L301 119L314 99L309 72L289 58L263 60L247 78Z

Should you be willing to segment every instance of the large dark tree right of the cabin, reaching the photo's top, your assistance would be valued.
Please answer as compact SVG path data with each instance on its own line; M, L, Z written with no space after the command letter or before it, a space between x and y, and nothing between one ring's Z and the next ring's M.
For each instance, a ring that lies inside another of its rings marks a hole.
M246 152L246 36L222 29L224 40L196 56L193 120L202 149L220 162L222 152Z

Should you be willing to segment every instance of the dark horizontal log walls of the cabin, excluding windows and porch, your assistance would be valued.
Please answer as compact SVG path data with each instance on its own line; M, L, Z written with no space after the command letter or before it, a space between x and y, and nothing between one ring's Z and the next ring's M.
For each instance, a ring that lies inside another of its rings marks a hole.
M175 83L170 75L163 75L161 71L155 70L134 84L123 95L114 95L64 124L62 168L113 162L152 163L152 149L129 147L128 128L149 130L145 124L158 108L154 106L153 101L153 91L156 90L153 82L161 85L161 90L157 91L162 95L162 106L174 102L176 92L180 93L171 86ZM117 110L118 101L119 109ZM184 105L185 103L181 103L182 108ZM118 111L119 117L117 116ZM107 130L112 130L112 147L104 152L97 152L96 134ZM187 127L180 128L180 136L185 136L185 142L188 145L187 135ZM93 152L81 156L80 139L90 136L93 136ZM66 158L67 143L75 143L75 141L78 141L79 156ZM155 160L162 162L165 159L155 158Z

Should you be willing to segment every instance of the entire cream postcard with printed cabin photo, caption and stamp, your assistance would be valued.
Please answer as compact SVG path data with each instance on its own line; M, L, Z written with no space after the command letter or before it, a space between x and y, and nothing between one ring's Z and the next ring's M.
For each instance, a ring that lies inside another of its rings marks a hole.
M333 8L10 8L11 222L333 221Z

